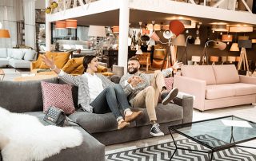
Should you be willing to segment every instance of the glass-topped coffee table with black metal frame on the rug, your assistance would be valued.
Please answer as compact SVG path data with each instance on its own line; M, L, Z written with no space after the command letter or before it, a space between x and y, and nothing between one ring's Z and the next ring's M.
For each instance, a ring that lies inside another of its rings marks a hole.
M174 141L175 151L178 149L185 151L198 151L207 153L209 160L214 158L214 152L230 149L230 147L246 147L238 145L253 139L256 139L256 123L239 118L237 116L224 116L210 120L201 120L187 124L179 124L168 127L170 135ZM172 132L176 132L207 147L209 151L187 149L178 147ZM256 147L247 147L254 148Z

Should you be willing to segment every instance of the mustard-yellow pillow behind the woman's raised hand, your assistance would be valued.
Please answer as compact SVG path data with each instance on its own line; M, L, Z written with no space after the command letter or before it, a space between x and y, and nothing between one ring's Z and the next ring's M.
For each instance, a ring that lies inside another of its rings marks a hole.
M66 64L66 62L70 59L70 53L51 53L51 52L46 52L46 57L48 58L53 58L55 65L59 68L62 69L63 66ZM47 65L45 65L43 62L39 66L39 69L50 69Z

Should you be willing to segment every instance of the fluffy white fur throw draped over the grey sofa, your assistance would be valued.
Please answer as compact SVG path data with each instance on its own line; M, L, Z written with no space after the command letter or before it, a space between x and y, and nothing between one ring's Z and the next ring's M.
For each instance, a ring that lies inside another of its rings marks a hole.
M0 149L4 161L42 160L82 143L74 128L44 126L37 117L0 107Z

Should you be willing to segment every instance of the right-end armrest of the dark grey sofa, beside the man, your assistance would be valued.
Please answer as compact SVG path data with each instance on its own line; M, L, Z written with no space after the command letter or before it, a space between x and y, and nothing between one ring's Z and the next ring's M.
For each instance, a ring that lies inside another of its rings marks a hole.
M183 95L182 98L175 97L174 104L183 107L182 124L190 123L193 119L193 96Z

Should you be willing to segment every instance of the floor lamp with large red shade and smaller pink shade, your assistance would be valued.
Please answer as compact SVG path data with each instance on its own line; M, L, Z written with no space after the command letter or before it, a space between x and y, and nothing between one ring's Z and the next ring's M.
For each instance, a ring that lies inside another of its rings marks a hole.
M161 44L168 44L168 52L166 53L164 60L162 62L161 71L165 64L166 58L170 57L171 39L178 37L178 35L180 33L182 33L184 31L184 29L185 29L185 27L182 22L180 22L178 20L171 21L169 24L169 30L167 29L163 32L163 37L165 37L168 40L168 42L160 41L160 38L158 37L157 33L155 33L155 32L150 34L150 38L153 39L154 41L159 41ZM170 58L167 60L167 66L168 66L168 62L170 62Z

